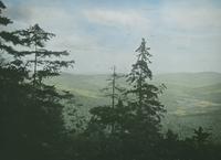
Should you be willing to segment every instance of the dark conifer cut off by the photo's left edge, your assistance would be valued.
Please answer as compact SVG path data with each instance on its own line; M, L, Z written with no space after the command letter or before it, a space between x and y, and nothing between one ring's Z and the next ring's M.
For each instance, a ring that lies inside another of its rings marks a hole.
M4 9L4 3L0 1L1 29L12 23L2 15ZM18 157L22 148L22 143L19 143L23 139L20 124L24 110L21 106L25 103L27 96L22 83L28 76L28 71L22 61L15 56L18 44L22 44L22 41L14 32L0 31L0 159L9 160Z

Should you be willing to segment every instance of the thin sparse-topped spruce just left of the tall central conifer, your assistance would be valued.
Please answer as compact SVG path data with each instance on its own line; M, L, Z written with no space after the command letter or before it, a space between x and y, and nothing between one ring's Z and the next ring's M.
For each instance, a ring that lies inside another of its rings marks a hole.
M102 89L110 103L90 110L92 117L83 134L90 146L84 146L83 159L112 160L122 157L122 122L127 111L123 106L125 88L120 87L118 83L120 77L123 76L116 73L114 66L113 74L107 79L107 86Z

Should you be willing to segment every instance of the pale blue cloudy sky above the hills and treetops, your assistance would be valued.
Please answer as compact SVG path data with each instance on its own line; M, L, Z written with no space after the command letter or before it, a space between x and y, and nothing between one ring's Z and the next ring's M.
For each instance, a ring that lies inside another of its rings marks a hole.
M3 0L12 28L39 23L72 73L125 73L145 38L155 73L221 72L220 0Z

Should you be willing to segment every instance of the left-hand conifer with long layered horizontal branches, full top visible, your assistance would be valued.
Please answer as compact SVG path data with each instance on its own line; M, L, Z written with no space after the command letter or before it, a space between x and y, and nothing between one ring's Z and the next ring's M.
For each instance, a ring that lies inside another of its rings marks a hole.
M39 150L42 152L36 159L48 157L54 159L62 157L60 150L62 149L61 142L63 134L65 132L63 120L64 103L72 98L69 92L56 90L55 86L44 83L44 78L57 76L62 67L72 66L74 61L63 61L63 56L67 56L66 51L49 51L45 49L45 43L55 36L41 29L38 24L22 31L17 32L22 38L27 51L20 51L20 56L23 61L27 57L28 68L33 66L31 73L31 96L30 105L32 108L29 110L31 117L29 120L32 127L39 130L38 136L29 132L30 145L34 145L32 151L35 154ZM29 60L28 56L33 56ZM59 57L59 60L56 58ZM28 130L28 131L29 131ZM57 152L57 154L56 154Z

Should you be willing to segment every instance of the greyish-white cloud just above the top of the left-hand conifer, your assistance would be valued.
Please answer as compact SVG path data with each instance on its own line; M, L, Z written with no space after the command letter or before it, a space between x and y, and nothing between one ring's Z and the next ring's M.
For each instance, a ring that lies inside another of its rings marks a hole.
M43 29L57 34L76 29L77 15L71 14L64 8L56 6L44 7L21 3L19 6L10 4L7 14L13 20L17 28L25 29L39 23Z

